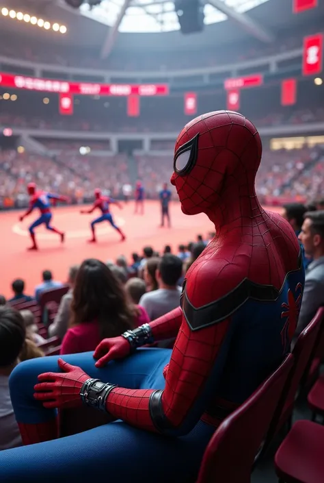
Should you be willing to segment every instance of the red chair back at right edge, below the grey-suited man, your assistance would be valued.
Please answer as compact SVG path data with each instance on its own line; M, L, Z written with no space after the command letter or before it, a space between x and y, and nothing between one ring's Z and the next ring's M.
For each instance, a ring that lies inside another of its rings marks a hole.
M293 407L295 404L295 397L301 382L301 377L305 373L308 363L312 357L316 339L319 336L321 325L324 317L324 309L320 308L314 319L308 324L308 326L299 335L296 345L293 349L293 355L295 358L294 369L291 375L291 380L288 385L288 392L286 393L286 402L280 416L277 430L291 417L293 414Z

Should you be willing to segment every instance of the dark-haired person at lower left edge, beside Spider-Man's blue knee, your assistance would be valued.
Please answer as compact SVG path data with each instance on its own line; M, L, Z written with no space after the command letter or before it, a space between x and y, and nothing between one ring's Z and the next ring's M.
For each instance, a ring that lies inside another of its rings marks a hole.
M21 314L10 306L0 307L0 451L23 444L12 409L8 381L19 362L24 342L25 325Z

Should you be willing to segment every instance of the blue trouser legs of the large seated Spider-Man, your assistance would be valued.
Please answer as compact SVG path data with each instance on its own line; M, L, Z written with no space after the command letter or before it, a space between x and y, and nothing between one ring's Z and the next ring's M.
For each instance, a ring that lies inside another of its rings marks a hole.
M167 349L143 349L104 369L94 367L91 353L64 356L64 360L120 386L163 388L162 370L170 355ZM57 371L57 357L23 362L12 373L10 391L18 420L31 423L53 417L32 397L37 375L47 371ZM116 421L66 438L0 451L0 481L194 482L213 430L200 421L187 436L167 438Z

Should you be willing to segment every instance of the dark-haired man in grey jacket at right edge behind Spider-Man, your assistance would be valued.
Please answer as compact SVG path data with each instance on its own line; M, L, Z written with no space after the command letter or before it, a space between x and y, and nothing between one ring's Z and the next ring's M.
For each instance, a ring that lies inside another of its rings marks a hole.
M319 307L324 305L324 210L305 214L299 240L312 262L306 270L295 338L307 327Z

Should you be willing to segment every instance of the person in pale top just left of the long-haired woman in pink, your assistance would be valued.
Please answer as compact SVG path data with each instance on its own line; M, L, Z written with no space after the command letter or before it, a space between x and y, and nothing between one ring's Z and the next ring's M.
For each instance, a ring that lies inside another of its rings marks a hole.
M63 295L61 301L59 302L59 309L57 310L55 319L49 326L49 337L57 336L62 339L68 330L68 322L71 317L73 288L75 286L75 279L77 278L78 270L79 265L73 265L70 267L68 272L68 284L70 285L70 290L68 290L68 293Z

